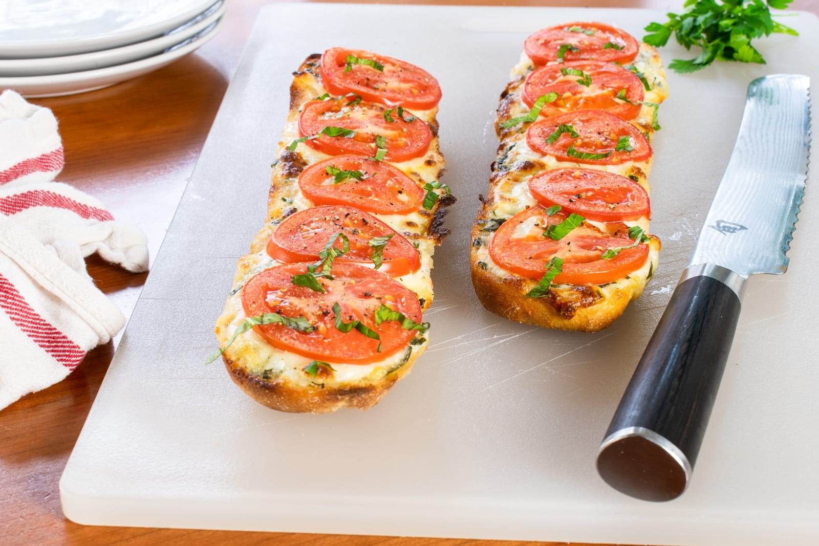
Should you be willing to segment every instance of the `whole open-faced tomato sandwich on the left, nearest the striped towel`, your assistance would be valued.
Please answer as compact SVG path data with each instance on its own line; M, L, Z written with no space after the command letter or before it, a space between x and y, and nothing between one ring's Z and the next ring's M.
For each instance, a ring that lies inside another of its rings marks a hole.
M216 322L230 377L287 412L366 409L428 345L441 88L408 62L334 47L294 73L268 219Z

